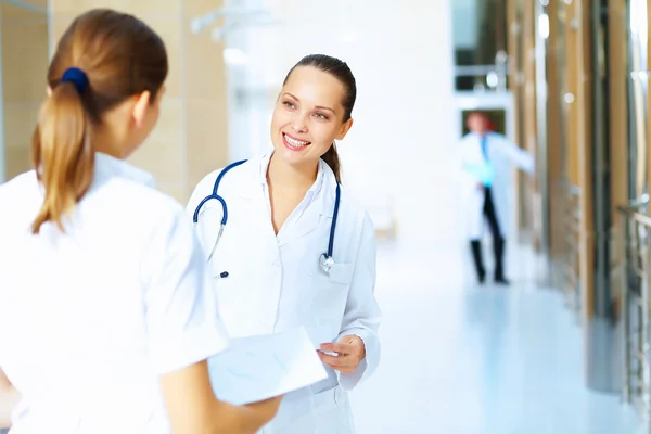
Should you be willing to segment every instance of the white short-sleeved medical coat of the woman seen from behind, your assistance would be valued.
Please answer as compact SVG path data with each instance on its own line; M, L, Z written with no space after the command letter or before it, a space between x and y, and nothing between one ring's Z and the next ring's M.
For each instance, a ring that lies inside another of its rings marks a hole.
M168 434L158 375L228 345L183 207L97 154L62 235L30 225L34 171L0 186L0 368L23 399L11 434Z

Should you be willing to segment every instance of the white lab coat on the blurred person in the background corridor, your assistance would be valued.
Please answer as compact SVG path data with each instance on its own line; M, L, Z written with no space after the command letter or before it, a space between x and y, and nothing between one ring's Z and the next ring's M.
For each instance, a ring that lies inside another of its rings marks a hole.
M534 171L534 159L524 150L516 146L505 136L497 132L487 132L487 153L493 166L495 178L490 188L493 204L501 237L510 232L509 203L513 196L513 168L518 167L529 174ZM484 190L477 188L480 179L468 169L469 166L481 165L484 162L481 137L470 132L459 142L459 156L461 164L461 201L462 215L465 220L465 235L470 240L478 240L483 235L484 218Z

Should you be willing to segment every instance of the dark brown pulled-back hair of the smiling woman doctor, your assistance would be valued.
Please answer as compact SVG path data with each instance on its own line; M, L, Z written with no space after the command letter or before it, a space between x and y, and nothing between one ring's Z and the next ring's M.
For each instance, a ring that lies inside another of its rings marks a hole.
M345 94L344 100L342 101L342 105L344 106L343 122L348 120L353 115L353 107L355 106L355 100L357 99L357 84L355 81L355 76L353 75L353 72L350 71L346 62L326 54L306 55L290 69L283 81L283 86L290 79L292 72L298 66L316 67L319 71L322 71L336 77L341 81L341 84L344 85ZM328 149L328 152L326 152L326 154L321 156L321 158L326 163L328 163L328 166L330 166L330 168L334 173L336 181L341 183L342 165L339 158L339 153L336 152L336 144L334 142L332 142L332 145Z

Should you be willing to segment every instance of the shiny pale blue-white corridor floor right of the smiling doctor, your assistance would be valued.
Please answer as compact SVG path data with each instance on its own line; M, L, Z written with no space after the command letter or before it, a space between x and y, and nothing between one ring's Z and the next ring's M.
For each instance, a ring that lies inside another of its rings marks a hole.
M618 396L584 387L580 329L533 283L531 253L510 250L511 288L478 289L452 244L381 247L383 361L353 394L358 434L641 431Z

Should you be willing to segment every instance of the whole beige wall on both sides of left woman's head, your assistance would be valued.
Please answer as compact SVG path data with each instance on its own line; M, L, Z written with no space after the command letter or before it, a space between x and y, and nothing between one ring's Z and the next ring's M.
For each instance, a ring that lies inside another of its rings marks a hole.
M31 0L40 12L0 0L8 179L29 168L29 141L46 89L49 46L72 20L98 0ZM192 35L190 20L220 0L105 0L102 7L133 13L167 46L170 75L157 128L131 157L158 187L184 202L196 182L228 162L226 75L221 48L209 30ZM49 26L53 40L49 40Z

